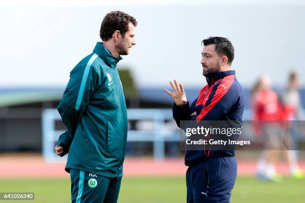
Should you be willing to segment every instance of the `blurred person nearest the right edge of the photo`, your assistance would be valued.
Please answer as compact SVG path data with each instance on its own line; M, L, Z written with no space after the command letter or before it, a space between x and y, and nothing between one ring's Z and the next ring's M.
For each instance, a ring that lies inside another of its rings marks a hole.
M304 120L303 107L301 97L298 91L299 77L295 71L291 71L288 76L288 86L280 94L280 101L282 105L282 118L285 124L285 139L284 143L288 150L285 151L290 173L293 178L304 178L304 172L300 169L297 161L297 142L298 134L297 130L299 122L294 120Z

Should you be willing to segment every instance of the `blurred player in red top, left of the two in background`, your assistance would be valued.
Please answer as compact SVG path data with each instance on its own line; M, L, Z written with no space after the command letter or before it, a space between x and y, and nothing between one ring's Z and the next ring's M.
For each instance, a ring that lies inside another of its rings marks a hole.
M262 136L265 150L261 153L257 163L257 178L279 182L276 173L276 163L282 146L280 120L280 103L277 94L270 88L268 76L260 77L251 91L253 120L255 132ZM283 133L282 133L283 134Z

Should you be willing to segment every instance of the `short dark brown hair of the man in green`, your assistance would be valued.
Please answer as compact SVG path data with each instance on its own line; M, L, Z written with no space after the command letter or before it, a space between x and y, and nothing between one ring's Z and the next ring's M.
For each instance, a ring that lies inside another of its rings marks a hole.
M112 37L112 34L119 30L122 36L125 36L125 33L128 31L128 24L132 22L135 26L137 26L137 20L122 11L111 11L107 13L104 17L100 29L100 37L103 41L107 41Z

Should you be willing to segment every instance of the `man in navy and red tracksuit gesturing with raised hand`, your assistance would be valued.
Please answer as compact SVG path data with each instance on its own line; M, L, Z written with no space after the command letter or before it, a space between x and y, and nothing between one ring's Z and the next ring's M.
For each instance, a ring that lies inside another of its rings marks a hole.
M224 37L202 41L202 68L207 85L190 105L182 84L169 82L173 92L164 90L174 101L173 117L180 121L242 122L244 91L231 70L234 47ZM186 150L187 203L228 203L237 176L233 149Z

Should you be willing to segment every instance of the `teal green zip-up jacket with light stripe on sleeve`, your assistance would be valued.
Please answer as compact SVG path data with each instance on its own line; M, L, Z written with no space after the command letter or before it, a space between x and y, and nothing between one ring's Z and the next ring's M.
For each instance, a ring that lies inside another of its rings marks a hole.
M109 178L123 176L127 108L114 57L98 42L81 60L57 107L67 130L57 145L69 152L65 170L78 169Z

